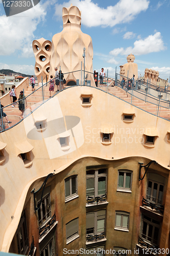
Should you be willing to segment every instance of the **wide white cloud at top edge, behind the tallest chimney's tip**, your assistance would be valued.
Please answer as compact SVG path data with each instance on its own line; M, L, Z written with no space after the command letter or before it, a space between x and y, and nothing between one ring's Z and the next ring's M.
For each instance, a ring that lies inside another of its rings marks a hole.
M62 5L56 4L55 14L62 15L62 7L70 4L77 6L82 11L82 24L87 27L113 27L116 24L131 22L137 14L149 7L149 0L119 0L114 6L106 9L94 4L91 0L70 0Z

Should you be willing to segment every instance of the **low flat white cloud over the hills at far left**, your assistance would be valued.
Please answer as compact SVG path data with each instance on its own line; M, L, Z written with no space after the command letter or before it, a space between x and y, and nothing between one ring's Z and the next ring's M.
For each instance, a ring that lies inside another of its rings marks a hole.
M0 63L0 69L11 69L15 72L19 72L26 75L33 75L34 74L34 66L32 65L17 65L17 64L6 64Z

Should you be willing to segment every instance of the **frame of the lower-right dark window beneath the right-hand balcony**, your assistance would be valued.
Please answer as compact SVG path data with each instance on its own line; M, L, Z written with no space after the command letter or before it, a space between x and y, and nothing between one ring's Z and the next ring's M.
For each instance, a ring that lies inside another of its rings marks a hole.
M144 216L148 217L151 219L151 221L147 220L147 219L144 219ZM141 225L141 235L140 237L147 243L151 244L151 245L158 245L159 244L159 239L160 239L160 229L161 229L161 222L159 222L159 225L156 224L156 223L153 223L152 220L155 220L154 218L152 217L149 217L147 215L142 215L142 225ZM155 220L157 221L157 220ZM146 231L146 234L143 234L143 222L147 223L147 231ZM151 237L151 241L147 240L148 238L148 233L149 233L149 225L152 226L152 237ZM153 240L154 240L154 233L155 233L155 227L159 229L159 232L158 232L158 240L157 240L157 244L154 244L153 243ZM145 236L145 238L143 238L143 236Z

